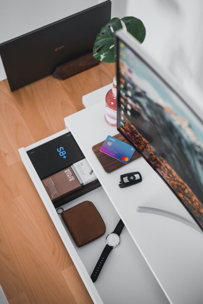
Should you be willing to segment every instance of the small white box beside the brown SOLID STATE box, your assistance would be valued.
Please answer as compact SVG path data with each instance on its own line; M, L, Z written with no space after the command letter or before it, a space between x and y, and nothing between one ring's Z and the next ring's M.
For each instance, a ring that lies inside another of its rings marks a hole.
M71 166L71 168L81 185L86 185L97 178L86 158L82 159L81 161L77 161Z

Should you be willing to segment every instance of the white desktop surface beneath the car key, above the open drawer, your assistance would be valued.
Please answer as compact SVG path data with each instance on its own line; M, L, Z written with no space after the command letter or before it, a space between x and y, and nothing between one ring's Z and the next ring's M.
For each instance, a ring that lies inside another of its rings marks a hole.
M75 137L169 301L173 304L202 304L202 233L173 219L136 210L138 206L159 208L193 221L189 213L144 159L106 174L92 151L92 146L107 135L118 133L104 120L104 101L66 117L65 125ZM120 174L132 171L140 171L142 183L120 189Z

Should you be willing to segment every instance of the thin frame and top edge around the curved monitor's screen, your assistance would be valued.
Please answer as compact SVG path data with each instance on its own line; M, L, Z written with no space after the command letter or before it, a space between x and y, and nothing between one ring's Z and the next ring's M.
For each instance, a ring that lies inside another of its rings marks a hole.
M173 93L175 93L178 98L181 99L182 102L193 112L193 114L196 116L197 119L200 120L200 122L203 124L203 120L197 115L197 112L201 114L203 117L203 106L201 103L195 102L194 100L191 100L189 96L183 92L183 90L175 83L172 79L172 76L164 71L155 61L149 57L148 54L146 54L143 50L143 48L140 47L140 44L138 41L127 31L121 29L117 31L115 34L116 36L116 77L117 77L117 85L118 81L120 79L119 75L119 56L117 56L119 51L119 41L123 42L140 60L142 60L151 70L154 72L163 82L164 84L172 90ZM120 108L118 108L118 97L119 92L117 90L117 113ZM192 107L190 105L193 105ZM134 146L131 141L125 136L125 134L118 128L118 119L117 119L117 131L130 143L137 151L138 153L145 159L145 161L150 165L150 167L159 175L159 177L164 181L164 183L170 188L170 190L173 192L173 194L177 197L177 199L181 202L181 204L184 206L184 208L187 210L187 212L191 215L191 217L194 219L195 223L197 223L198 227L203 231L203 227L198 223L197 219L194 217L194 215L191 213L191 211L187 208L187 206L184 204L184 202L180 199L180 197L176 194L176 192L173 190L173 188L170 187L170 185L166 182L166 180L159 174L159 172L152 166L152 164L146 159L146 157L141 153L141 151Z

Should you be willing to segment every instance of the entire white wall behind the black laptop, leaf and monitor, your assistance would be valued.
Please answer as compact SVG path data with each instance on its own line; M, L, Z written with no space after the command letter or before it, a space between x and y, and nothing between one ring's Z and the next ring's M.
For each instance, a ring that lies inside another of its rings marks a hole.
M0 43L104 0L1 0ZM112 0L112 17L135 16L146 27L142 47L193 98L203 97L203 1ZM0 62L0 80L6 78Z

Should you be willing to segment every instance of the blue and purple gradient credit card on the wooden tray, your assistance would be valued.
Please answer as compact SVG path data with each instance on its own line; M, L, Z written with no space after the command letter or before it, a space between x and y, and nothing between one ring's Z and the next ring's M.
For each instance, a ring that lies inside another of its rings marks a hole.
M100 151L128 164L135 152L135 148L109 135L101 146Z

